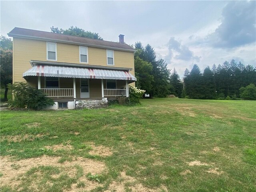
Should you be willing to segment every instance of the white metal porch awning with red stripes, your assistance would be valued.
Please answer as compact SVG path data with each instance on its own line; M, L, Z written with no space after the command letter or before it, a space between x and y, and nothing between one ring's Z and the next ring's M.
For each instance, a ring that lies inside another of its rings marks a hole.
M82 68L71 66L37 65L23 73L26 76L114 79L136 81L136 78L126 70L110 70L100 68Z

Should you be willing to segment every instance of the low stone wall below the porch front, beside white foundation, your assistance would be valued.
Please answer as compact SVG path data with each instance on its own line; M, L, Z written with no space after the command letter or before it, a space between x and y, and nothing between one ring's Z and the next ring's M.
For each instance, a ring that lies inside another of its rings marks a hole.
M79 100L76 101L76 109L102 108L108 106L108 100Z

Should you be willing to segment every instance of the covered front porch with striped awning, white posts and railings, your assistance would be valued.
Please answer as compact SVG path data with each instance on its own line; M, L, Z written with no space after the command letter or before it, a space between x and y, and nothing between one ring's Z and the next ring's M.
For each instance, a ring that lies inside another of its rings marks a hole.
M129 97L128 84L136 81L126 68L32 63L35 66L23 77L54 100Z

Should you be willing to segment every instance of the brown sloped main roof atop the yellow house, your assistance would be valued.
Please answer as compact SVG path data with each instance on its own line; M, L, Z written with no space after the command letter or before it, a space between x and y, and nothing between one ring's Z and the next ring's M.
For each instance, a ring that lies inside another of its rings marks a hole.
M18 28L18 27L15 27L13 30L11 30L8 33L8 36L44 39L44 40L49 40L49 41L51 40L55 42L58 41L58 42L66 42L66 43L72 43L72 44L81 44L81 45L87 45L87 46L112 48L117 50L126 50L126 51L135 52L135 50L131 46L125 43L97 40L97 39L86 38L86 37L57 34L52 32L24 29L24 28Z

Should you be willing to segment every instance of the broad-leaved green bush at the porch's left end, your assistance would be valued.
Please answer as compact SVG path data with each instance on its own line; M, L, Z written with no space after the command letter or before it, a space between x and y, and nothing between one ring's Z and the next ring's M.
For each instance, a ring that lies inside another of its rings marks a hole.
M54 101L46 97L46 94L42 90L28 86L26 83L9 84L8 87L12 88L14 94L14 100L10 104L10 107L38 110L48 105L54 105Z

